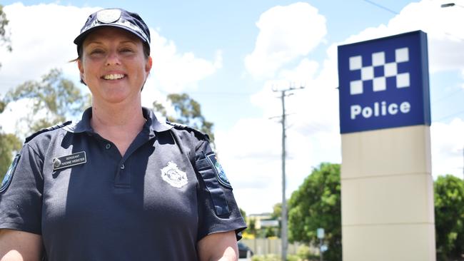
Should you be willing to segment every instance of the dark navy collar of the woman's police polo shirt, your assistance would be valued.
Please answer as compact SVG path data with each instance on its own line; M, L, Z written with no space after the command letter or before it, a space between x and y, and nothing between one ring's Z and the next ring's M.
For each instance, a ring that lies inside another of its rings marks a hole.
M151 111L148 108L142 107L142 114L143 118L146 119L146 123L143 126L143 128L148 128L150 133L155 133L155 132L162 132L162 131L168 131L173 128L173 126L170 126L166 123L161 123L158 121L158 119L155 116L155 113ZM64 126L64 129L66 131L69 131L71 133L84 133L84 132L90 132L93 133L94 130L90 126L90 119L92 117L92 108L87 108L86 111L82 114L81 121L78 121L76 123L70 124L68 126Z

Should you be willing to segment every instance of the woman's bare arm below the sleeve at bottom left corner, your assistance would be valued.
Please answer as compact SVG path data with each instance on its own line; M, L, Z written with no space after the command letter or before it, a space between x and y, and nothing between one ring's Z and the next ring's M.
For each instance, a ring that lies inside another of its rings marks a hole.
M0 261L39 261L42 237L19 230L0 230Z

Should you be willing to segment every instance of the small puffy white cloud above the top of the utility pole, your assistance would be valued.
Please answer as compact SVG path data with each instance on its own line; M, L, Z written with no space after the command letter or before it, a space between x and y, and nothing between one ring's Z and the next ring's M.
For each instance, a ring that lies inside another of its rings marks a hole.
M253 53L245 58L252 76L272 77L286 63L306 56L326 35L326 19L307 3L276 6L261 14Z

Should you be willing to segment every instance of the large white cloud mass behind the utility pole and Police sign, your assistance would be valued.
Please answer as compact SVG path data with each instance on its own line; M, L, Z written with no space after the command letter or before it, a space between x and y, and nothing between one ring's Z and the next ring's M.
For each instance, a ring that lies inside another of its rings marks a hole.
M246 68L251 75L273 77L272 81L263 83L263 89L251 98L252 103L262 109L263 118L243 119L228 133L216 135L217 148L224 151L223 158L228 160L227 165L233 166L229 173L236 177L231 179L239 182L236 185L238 203L243 205L246 211L270 212L273 204L281 202L281 127L276 123L268 123L271 121L268 120L269 117L281 115L281 100L277 98L279 93L271 89L288 88L292 83L297 87L299 84L306 86L304 90L294 91L293 96L286 98L289 114L289 196L311 172L310 167L315 167L323 161L341 162L336 90L338 45L423 30L428 33L431 73L464 68L464 31L461 28L464 24L464 9L440 9L440 4L443 3L432 0L409 4L388 23L365 29L342 43L332 44L328 47L327 56L322 62L311 61L308 53L323 41L323 17L316 19L319 22L313 22L309 27L308 23L295 26L291 22L283 22L276 26L277 21L284 20L281 17L286 11L292 10L291 14L296 16L303 11L296 11L293 9L295 6L291 5L277 6L263 13L258 22L260 32L255 50L246 56L245 60ZM300 7L303 6L307 7L305 10L313 10L313 16L320 16L314 11L316 9L308 4ZM283 41L282 31L291 31L291 35L295 37L305 34L316 37L312 39L311 44L306 43L305 49L293 44L298 42L295 39ZM431 130L433 176L452 173L462 177L463 121L455 119L450 124L433 123ZM249 158L252 158L252 155L269 155L269 158L248 162L243 159L243 155L248 153ZM243 183L242 180L246 181ZM251 189L253 185L256 186L255 190Z

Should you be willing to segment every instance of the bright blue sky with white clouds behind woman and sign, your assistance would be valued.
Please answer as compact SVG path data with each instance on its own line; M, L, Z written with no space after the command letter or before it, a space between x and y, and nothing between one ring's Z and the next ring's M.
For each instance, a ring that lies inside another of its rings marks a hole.
M79 83L72 43L87 16L121 7L151 30L153 68L144 106L188 93L214 123L238 205L270 213L281 202L281 116L286 98L286 197L313 168L341 163L337 46L422 30L428 34L432 175L463 177L464 1L1 1L13 51L0 48L0 96L51 68ZM17 133L25 102L9 104L1 128ZM78 118L74 118L77 120Z

